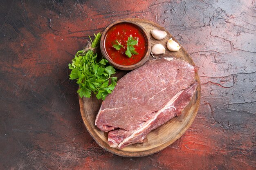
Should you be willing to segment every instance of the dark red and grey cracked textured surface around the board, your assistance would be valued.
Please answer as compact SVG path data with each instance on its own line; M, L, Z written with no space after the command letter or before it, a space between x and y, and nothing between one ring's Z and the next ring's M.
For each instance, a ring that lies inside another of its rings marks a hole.
M0 2L1 170L255 170L255 1ZM111 22L159 23L200 68L198 115L141 158L103 150L85 129L67 64Z

